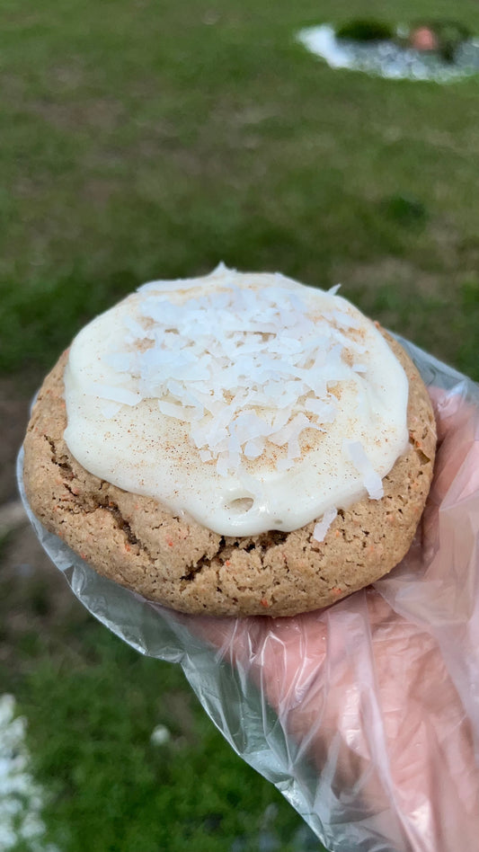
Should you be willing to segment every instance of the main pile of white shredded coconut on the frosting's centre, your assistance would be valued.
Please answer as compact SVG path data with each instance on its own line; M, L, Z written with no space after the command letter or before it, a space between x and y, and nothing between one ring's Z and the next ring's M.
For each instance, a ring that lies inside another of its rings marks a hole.
M139 321L123 320L119 348L108 357L114 384L91 387L107 401L102 413L155 398L163 414L190 424L200 458L214 460L220 475L268 445L279 448L277 469L288 468L306 431L323 431L336 417L331 390L345 378L346 346L360 351L342 332L358 321L345 310L313 318L280 283L194 293L187 285L139 288ZM179 286L181 300L172 296Z

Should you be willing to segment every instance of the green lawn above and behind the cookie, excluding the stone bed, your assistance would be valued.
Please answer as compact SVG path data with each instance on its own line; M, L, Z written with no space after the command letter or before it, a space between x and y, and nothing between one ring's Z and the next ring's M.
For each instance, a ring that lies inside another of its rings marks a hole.
M448 8L420 6L389 16ZM361 9L350 0L342 19ZM476 80L332 73L294 40L319 19L337 20L335 4L4 6L0 368L40 373L137 283L222 259L341 280L479 375L457 348L478 310L463 298L479 255Z

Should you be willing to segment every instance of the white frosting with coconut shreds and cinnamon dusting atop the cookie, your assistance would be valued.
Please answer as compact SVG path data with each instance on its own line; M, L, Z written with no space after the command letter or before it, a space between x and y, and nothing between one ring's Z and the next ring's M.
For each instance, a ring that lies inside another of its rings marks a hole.
M408 382L335 292L220 265L154 281L73 342L74 457L221 535L292 530L365 493L407 447Z

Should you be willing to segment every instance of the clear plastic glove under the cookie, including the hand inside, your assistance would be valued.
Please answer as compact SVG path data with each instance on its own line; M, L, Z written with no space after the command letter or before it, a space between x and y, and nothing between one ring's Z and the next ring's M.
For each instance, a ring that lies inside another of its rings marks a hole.
M479 837L479 387L401 340L439 451L409 554L374 587L293 618L175 613L103 579L35 519L84 606L182 665L233 749L336 852L457 852Z

